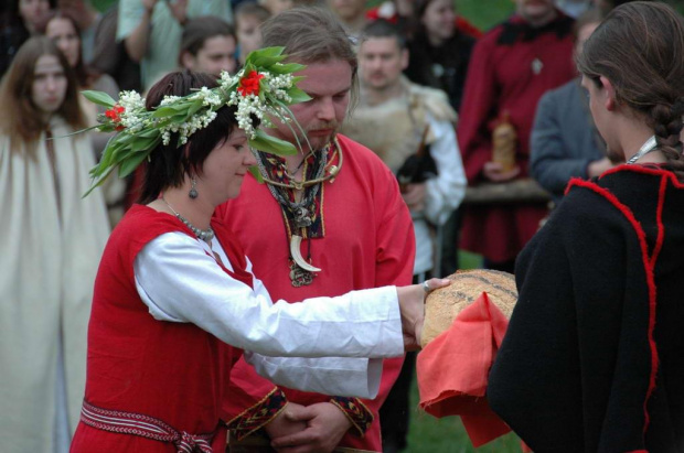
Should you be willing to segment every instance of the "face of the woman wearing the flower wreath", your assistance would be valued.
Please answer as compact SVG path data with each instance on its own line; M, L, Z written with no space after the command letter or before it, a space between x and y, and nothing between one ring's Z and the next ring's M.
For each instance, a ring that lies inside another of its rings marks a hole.
M216 204L239 195L245 175L256 159L247 143L245 131L233 128L231 137L209 154L202 165L202 175L197 177L197 187L201 193L211 193L217 196Z

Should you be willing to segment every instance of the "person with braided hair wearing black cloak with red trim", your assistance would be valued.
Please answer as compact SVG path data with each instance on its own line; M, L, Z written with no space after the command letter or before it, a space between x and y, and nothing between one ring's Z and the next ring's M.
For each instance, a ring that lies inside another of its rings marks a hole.
M684 21L616 8L577 57L627 164L574 180L516 266L492 409L535 452L684 451Z

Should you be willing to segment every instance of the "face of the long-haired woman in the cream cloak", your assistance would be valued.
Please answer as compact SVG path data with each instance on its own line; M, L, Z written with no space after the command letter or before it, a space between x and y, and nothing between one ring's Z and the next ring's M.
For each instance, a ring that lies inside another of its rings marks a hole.
M57 111L66 96L66 75L55 55L41 55L33 69L31 100L35 108L50 116Z

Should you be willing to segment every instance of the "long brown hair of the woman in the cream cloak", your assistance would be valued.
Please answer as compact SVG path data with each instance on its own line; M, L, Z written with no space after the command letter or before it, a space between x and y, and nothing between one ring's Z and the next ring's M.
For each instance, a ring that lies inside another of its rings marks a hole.
M74 129L86 127L85 116L78 104L77 83L64 54L45 36L29 39L19 50L0 85L0 132L10 138L13 150L25 143L32 152L36 140L47 127L45 118L33 105L32 89L35 64L43 55L53 55L60 62L66 77L64 101L55 115L61 116Z

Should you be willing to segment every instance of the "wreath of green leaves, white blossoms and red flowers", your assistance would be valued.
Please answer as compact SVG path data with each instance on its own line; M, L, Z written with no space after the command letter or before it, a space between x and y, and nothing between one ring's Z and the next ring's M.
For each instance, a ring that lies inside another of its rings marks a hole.
M254 51L236 75L223 72L217 87L202 87L182 97L164 96L153 110L147 110L145 98L132 90L121 91L118 103L103 91L83 91L92 103L107 107L105 114L98 116L99 125L86 130L119 132L109 140L99 163L90 170L93 183L86 195L103 184L117 166L119 177L129 175L143 160L149 159L160 142L169 144L171 133L179 133L179 147L185 144L188 138L206 128L216 118L216 110L224 106L237 106L237 127L246 132L253 149L280 155L295 154L297 148L292 143L255 128L250 118L254 115L261 120L261 125L272 128L269 119L272 116L290 129L290 123L293 123L301 130L288 106L310 99L296 86L302 77L292 75L304 66L280 63L287 57L282 54L284 50L266 47ZM298 145L301 148L299 142Z

